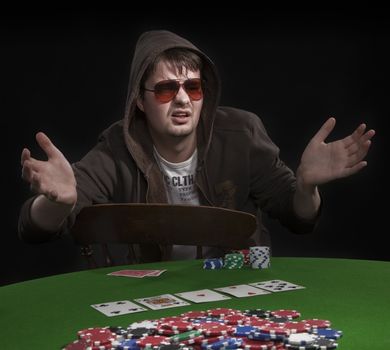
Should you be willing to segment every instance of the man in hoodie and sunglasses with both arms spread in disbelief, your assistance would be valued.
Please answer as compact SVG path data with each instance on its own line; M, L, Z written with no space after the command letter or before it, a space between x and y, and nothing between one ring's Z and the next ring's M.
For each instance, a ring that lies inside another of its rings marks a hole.
M328 119L294 175L260 118L219 107L219 95L216 68L204 53L173 33L144 33L132 62L125 116L81 161L70 165L43 133L36 139L47 161L22 151L22 176L37 195L22 207L21 238L61 236L83 207L114 202L246 211L258 217L253 244L270 244L261 212L294 232L312 231L321 206L318 186L362 169L374 131L366 132L362 124L326 144L335 126L335 119ZM161 258L157 246L141 246L140 254L143 261ZM193 254L183 247L173 250L177 258Z

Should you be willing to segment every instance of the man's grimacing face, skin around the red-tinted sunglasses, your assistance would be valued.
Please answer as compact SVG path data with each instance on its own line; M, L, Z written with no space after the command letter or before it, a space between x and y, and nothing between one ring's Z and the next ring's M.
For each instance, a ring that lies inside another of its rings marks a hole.
M153 90L155 85L163 80L178 79L183 83L193 78L200 78L200 72L183 68L180 74L176 68L160 61L155 72L146 80L144 88ZM154 92L145 90L144 98L139 98L137 105L146 115L155 142L157 140L164 142L172 138L195 138L203 98L191 99L183 85L180 86L176 96L166 103L158 101Z

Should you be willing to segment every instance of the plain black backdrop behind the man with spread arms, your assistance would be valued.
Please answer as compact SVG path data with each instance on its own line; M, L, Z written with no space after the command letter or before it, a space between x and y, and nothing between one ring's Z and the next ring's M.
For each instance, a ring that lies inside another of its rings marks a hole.
M30 195L20 178L23 147L42 156L45 131L70 161L122 118L130 61L144 30L187 37L219 67L222 104L262 117L294 170L329 117L329 140L362 121L377 131L359 174L321 188L323 217L310 236L267 220L275 256L389 260L385 244L389 21L383 12L261 12L184 16L141 12L1 15L2 254L1 284L85 268L69 238L29 245L18 240L20 205Z

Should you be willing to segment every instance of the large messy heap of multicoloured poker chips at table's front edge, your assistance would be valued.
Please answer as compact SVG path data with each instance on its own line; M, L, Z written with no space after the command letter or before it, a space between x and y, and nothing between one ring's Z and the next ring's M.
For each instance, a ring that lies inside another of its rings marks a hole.
M342 331L321 319L297 319L296 310L215 308L77 332L63 350L327 350Z

